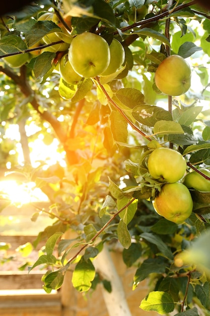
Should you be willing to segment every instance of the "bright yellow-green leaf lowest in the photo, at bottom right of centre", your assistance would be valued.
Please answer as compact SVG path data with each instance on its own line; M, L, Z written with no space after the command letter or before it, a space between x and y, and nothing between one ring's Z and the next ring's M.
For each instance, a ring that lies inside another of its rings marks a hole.
M169 293L162 291L150 292L139 306L143 310L155 310L159 314L164 315L174 310L173 298Z

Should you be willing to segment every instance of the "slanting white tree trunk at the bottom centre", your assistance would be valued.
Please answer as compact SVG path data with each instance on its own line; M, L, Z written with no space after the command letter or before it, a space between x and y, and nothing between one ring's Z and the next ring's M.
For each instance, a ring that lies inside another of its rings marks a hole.
M96 259L93 260L93 264L96 271L111 283L111 293L102 287L102 293L109 315L131 316L120 277L105 244L103 250L99 253Z

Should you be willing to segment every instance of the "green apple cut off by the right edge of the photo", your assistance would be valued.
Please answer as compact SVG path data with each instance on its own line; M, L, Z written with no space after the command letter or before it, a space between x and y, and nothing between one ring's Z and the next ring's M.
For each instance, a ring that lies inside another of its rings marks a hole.
M210 177L210 171L208 169L200 168L199 171ZM203 192L210 192L210 181L205 179L196 171L186 174L183 179L183 184L186 185L187 188L193 188Z

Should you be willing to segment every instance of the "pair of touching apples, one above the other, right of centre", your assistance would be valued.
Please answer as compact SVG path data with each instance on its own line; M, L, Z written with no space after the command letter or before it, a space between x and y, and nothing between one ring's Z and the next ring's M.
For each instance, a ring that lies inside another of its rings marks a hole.
M153 206L159 215L176 224L183 223L193 208L187 186L178 182L184 177L186 167L182 154L166 147L154 149L148 159L150 175L163 183L153 200Z

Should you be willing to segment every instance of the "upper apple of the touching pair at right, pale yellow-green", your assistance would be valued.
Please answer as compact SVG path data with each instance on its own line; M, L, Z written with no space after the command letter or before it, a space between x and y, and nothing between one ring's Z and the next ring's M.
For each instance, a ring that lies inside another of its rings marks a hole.
M154 179L163 182L177 182L185 174L186 161L174 149L159 147L152 151L148 159L148 170Z

